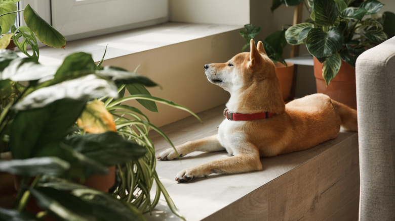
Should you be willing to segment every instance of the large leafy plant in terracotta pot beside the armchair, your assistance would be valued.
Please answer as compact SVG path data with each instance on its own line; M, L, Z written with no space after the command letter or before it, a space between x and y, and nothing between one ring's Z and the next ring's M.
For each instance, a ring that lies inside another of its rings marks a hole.
M372 17L383 4L376 0L309 0L303 4L310 19L288 28L287 42L306 44L314 57L319 93L356 108L355 60L366 49L387 39L382 25Z

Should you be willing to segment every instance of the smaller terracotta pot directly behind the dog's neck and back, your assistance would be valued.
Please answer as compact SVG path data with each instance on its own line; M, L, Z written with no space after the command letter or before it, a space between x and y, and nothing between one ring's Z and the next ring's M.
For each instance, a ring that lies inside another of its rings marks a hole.
M292 78L294 76L294 64L287 62L287 66L280 62L275 63L275 72L280 81L281 93L283 100L287 100L291 93Z

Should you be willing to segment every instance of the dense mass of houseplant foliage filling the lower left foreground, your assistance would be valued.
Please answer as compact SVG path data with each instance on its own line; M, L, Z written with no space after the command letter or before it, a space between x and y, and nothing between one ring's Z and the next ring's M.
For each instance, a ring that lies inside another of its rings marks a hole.
M140 99L148 100L149 108L156 101L190 112L145 92L143 85L156 83L121 68L96 66L84 52L70 54L60 67L47 67L2 50L0 85L0 152L11 151L13 156L0 160L0 171L20 179L15 206L0 207L0 219L144 220L141 211L151 209L161 192L178 214L150 157L154 151L149 128L163 133L137 108L122 104L126 99ZM124 98L128 87L129 92L138 88L143 94L132 92ZM129 185L118 190L144 193L129 192L127 197L135 199L128 200L132 204L84 185L87 178L106 174L111 165L123 174L120 185ZM140 177L149 174L154 176ZM151 202L145 198L153 180L158 192ZM40 209L27 211L29 201Z

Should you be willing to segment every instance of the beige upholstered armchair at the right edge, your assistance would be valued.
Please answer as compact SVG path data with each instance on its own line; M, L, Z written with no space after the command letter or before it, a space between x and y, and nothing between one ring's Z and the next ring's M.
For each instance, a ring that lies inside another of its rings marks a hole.
M357 59L360 220L395 220L395 37Z

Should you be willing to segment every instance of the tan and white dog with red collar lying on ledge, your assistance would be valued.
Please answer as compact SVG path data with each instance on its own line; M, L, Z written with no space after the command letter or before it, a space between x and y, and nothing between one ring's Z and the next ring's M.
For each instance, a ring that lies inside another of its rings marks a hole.
M262 170L260 157L305 150L338 136L340 128L358 131L357 111L324 94L285 104L273 62L261 41L226 63L204 66L207 79L230 93L218 134L189 141L159 154L172 160L193 151L226 150L229 158L180 171L176 181Z

